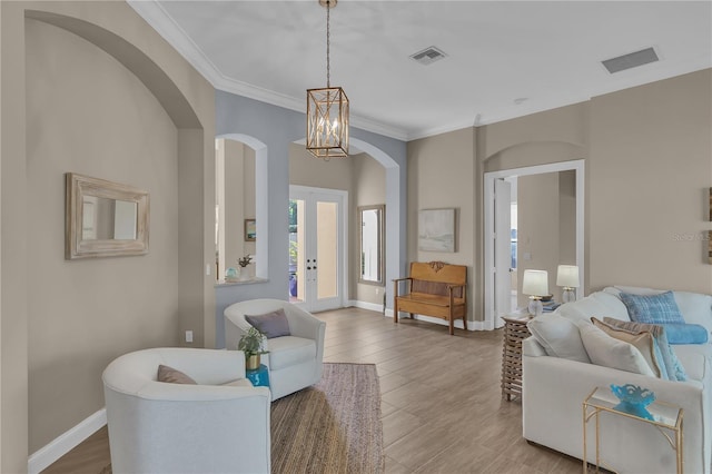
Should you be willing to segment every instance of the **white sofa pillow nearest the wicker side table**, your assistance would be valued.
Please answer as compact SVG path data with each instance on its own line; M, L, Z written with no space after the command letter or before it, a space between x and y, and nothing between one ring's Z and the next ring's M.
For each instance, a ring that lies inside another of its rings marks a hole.
M591 363L581 342L578 327L556 314L537 316L526 325L532 336L544 347L546 355Z

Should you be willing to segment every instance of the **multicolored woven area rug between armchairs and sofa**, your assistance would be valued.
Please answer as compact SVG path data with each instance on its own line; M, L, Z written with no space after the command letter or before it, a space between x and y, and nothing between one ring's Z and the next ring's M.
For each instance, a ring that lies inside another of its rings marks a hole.
M324 364L322 382L271 405L273 473L383 473L373 364Z

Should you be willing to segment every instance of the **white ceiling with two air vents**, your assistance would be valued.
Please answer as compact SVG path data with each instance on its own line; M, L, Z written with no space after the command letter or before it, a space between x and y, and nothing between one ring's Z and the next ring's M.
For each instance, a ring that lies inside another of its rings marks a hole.
M306 89L326 86L318 0L129 3L217 89L305 111ZM712 67L709 0L340 0L330 27L330 83L352 125L402 140ZM447 58L409 58L429 46ZM659 62L614 75L601 65L647 47Z

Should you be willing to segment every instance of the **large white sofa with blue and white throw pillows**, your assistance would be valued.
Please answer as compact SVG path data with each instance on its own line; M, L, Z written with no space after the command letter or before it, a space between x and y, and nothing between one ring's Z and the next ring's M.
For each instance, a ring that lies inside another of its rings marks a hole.
M620 290L639 295L654 294L647 288L609 287L574 303L562 305L553 315L541 316L545 324L558 324L554 337L575 342L577 332L561 324L564 318L578 324L613 317L630 320L626 306L619 298ZM675 302L685 323L699 324L712 330L712 296L674 292ZM541 324L540 322L538 324ZM582 323L583 322L583 323ZM555 326L547 326L552 329ZM541 326L540 326L541 328ZM560 330L561 329L561 330ZM534 333L533 333L534 334ZM712 346L708 344L673 345L680 363L689 376L686 382L670 382L616 368L575 361L566 345L558 354L547 346L541 334L523 343L523 435L533 443L551 447L571 456L583 458L582 402L596 386L635 384L650 388L660 401L684 409L684 472L710 473L712 453ZM543 344L540 344L543 342ZM576 343L580 344L580 343ZM562 348L563 347L563 348ZM548 349L548 352L547 352ZM567 357L567 358L566 358ZM594 434L589 424L589 442ZM651 425L621 416L601 417L601 455L605 463L620 473L675 472L675 455L669 442ZM593 444L587 457L595 461Z

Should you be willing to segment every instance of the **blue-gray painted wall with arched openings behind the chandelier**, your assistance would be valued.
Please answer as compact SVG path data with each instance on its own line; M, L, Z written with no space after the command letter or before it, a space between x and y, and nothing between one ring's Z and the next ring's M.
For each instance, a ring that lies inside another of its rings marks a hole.
M215 99L216 135L240 134L261 141L267 147L268 161L268 279L264 283L216 286L216 347L225 347L222 312L227 306L246 299L285 299L287 296L289 145L305 138L306 118L304 113L294 110L219 90L216 91ZM400 245L405 243L406 144L354 127L349 131L352 145L363 148L363 151L386 167L386 228L397 229L388 233L386 239L386 278L389 282L405 269L406 261L406 248L405 245ZM259 231L259 223L257 226Z

